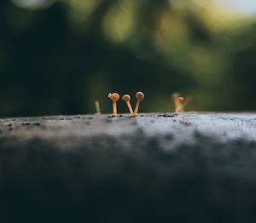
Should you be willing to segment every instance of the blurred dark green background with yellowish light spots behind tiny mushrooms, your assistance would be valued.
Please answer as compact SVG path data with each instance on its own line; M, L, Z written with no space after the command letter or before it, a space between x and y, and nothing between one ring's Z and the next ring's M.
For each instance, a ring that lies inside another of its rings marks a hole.
M256 110L254 0L1 0L0 116ZM120 112L127 112L120 101Z

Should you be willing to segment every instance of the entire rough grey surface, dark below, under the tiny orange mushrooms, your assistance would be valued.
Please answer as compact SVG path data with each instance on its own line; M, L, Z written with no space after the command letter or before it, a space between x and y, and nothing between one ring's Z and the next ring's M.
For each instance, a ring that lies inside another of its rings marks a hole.
M255 222L256 114L0 119L0 222Z

